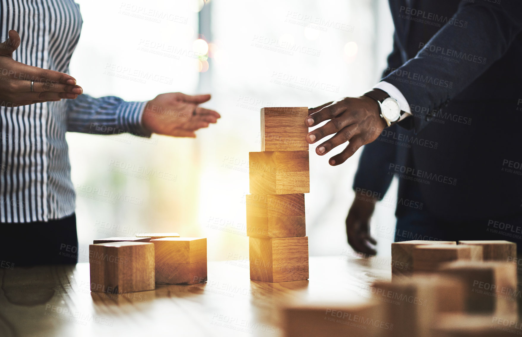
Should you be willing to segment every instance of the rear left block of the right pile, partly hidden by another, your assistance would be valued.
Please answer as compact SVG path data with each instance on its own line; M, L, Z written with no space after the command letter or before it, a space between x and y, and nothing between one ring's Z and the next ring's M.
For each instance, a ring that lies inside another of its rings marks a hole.
M411 276L413 272L412 252L417 245L456 245L455 241L412 240L392 243L392 280L400 276Z

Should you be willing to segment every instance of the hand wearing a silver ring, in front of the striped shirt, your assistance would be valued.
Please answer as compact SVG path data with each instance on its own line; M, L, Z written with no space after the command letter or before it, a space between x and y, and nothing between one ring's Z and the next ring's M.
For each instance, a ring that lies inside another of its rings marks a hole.
M34 103L74 99L83 90L74 77L59 71L29 66L13 59L20 46L20 35L9 31L0 43L0 106L17 107ZM31 91L31 82L33 88Z

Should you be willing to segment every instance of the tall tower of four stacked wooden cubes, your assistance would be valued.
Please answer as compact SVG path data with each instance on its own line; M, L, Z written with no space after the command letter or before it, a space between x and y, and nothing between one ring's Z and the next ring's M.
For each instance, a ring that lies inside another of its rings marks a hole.
M306 107L261 109L262 152L251 152L246 226L250 279L308 279L304 194L310 192Z

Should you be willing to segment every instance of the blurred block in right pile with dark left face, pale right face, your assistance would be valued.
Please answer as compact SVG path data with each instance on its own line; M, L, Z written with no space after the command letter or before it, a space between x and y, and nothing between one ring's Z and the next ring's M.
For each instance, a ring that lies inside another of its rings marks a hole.
M441 273L464 282L466 311L509 315L517 310L516 265L497 261L455 261L441 265Z

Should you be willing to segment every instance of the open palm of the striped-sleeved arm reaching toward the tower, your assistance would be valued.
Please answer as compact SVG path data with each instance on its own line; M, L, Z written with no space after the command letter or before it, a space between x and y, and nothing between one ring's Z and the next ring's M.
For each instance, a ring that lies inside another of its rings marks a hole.
M221 117L214 110L198 106L209 99L209 94L160 94L147 103L142 122L145 128L154 133L195 138L194 131L207 128Z

